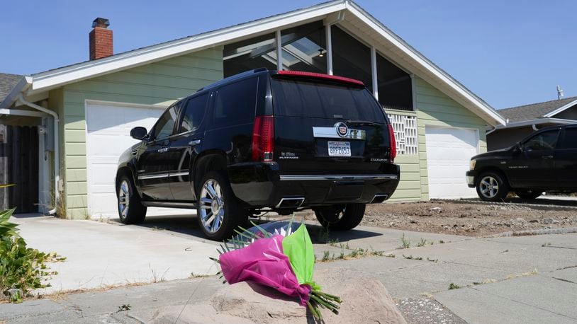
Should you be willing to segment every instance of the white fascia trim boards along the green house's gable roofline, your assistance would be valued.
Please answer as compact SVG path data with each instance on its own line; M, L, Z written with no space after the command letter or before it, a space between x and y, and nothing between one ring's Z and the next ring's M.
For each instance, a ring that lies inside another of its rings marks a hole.
M398 47L400 52L409 58L409 62L413 62L413 64L419 69L422 69L422 71L426 71L426 73L442 81L444 85L449 87L450 93L454 93L454 95L459 96L461 100L470 103L470 105L466 105L466 107L468 106L467 108L470 110L476 110L476 113L483 117L483 120L486 120L488 124L505 125L505 119L501 117L498 112L495 112L493 108L462 86L461 83L453 79L452 76L449 76L449 74L442 71L442 69L433 64L429 59L422 56L417 50L386 28L385 25L377 21L376 18L349 0L331 1L269 18L215 30L213 32L144 47L140 50L133 50L103 59L96 59L94 61L34 74L30 77L31 84L26 94L30 96L35 93L63 86L67 83L82 81L84 79L94 78L95 76L203 50L204 48L223 45L233 40L270 33L281 28L288 28L291 25L325 18L332 13L342 11L347 11L349 14L352 14L352 16L359 18L378 35L381 35L381 37L384 37L388 42ZM19 83L18 86L13 88L10 96L12 96L13 93L19 93L21 91L24 91L24 85L20 85ZM8 101L8 103L6 103L6 101ZM11 100L5 100L5 102L0 105L0 108L4 108L4 105L9 106L12 103Z

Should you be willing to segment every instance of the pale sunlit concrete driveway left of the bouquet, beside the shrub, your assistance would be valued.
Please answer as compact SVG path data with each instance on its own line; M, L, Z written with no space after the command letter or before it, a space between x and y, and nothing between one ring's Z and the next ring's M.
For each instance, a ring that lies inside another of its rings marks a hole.
M172 217L195 221L186 215ZM13 221L20 224L20 235L28 246L66 257L65 262L50 265L58 274L50 279L52 287L44 291L49 294L218 272L208 259L217 256L213 243L170 235L154 226L71 221L35 214L16 214Z

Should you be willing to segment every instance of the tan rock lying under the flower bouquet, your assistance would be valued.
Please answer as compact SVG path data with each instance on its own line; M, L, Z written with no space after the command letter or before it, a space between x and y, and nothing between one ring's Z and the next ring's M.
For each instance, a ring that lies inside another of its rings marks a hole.
M315 271L323 291L339 295L339 315L321 309L326 323L406 323L379 280L368 274L331 268ZM296 299L274 289L240 282L215 292L210 302L160 308L152 323L312 323L308 310ZM181 312L181 313L180 313ZM179 316L179 317L178 317Z

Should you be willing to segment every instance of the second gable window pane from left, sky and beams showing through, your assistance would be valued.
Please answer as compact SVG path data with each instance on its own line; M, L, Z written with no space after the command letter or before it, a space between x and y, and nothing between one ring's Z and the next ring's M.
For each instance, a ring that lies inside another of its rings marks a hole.
M325 37L325 26L322 21L282 30L282 68L327 73ZM276 55L274 57L276 58Z

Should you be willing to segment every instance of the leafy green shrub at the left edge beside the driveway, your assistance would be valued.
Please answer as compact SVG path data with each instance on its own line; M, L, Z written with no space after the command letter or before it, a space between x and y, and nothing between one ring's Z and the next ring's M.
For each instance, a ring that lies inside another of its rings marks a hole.
M26 241L16 233L17 224L9 222L13 212L14 209L0 212L0 291L2 296L19 303L33 289L49 287L42 280L56 272L48 271L45 262L65 258L27 248ZM10 289L19 290L9 294Z

